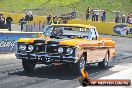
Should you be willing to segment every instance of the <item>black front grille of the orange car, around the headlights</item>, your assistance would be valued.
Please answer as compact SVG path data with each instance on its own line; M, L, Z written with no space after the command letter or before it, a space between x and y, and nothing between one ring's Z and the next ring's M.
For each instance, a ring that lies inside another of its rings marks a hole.
M18 44L19 45L19 44ZM27 47L29 44L25 44ZM26 51L20 51L20 50L17 50L17 52L27 52L27 53L35 53L35 54L52 54L52 55L67 55L67 52L66 52L66 49L67 47L69 46L61 46L61 45L58 45L58 44L45 44L45 43L35 43L35 44L32 44L34 46L34 50L32 52L29 52L28 49L26 49ZM62 47L64 50L63 50L63 53L58 53L58 48L59 47ZM74 49L74 48L73 48ZM75 53L75 49L74 49L74 53Z

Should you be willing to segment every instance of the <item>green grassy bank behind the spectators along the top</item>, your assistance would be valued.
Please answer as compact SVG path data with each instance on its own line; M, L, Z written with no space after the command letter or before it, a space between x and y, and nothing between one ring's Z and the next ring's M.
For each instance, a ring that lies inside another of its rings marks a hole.
M32 10L37 15L60 15L76 7L78 18L85 16L87 7L106 9L108 19L113 17L114 10L123 14L132 13L132 0L0 0L0 10L26 13Z

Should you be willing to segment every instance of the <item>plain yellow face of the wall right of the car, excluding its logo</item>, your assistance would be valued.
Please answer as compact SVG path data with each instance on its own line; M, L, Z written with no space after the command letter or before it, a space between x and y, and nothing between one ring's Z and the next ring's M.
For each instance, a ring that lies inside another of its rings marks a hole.
M116 25L122 25L121 23L116 24L113 22L96 22L96 21L86 21L86 20L69 20L68 23L73 24L86 24L95 26L99 33L101 34L109 34L109 35L118 35L113 31L113 27ZM127 24L129 27L132 28L132 24Z

